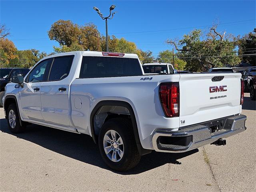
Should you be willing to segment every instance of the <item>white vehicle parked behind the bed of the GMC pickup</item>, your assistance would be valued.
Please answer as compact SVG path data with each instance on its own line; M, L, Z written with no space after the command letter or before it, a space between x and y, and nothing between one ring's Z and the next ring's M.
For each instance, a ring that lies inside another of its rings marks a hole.
M174 68L170 63L145 63L142 65L145 74L174 74Z

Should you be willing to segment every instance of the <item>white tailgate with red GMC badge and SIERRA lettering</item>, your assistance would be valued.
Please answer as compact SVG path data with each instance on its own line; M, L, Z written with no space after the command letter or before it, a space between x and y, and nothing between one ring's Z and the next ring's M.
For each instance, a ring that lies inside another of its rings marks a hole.
M180 74L180 127L239 114L240 78L240 73Z

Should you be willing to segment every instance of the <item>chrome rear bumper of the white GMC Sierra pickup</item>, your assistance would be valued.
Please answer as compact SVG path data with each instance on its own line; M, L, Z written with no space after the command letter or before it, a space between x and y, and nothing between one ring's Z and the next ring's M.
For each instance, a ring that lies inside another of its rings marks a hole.
M245 115L227 118L224 129L212 134L206 125L191 126L178 131L158 130L152 138L153 147L158 152L179 153L193 150L246 130L245 120Z

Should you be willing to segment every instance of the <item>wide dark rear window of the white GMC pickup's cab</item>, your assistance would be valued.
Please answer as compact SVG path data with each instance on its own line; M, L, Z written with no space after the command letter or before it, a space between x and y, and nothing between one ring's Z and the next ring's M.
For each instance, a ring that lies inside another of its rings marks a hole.
M142 75L136 58L84 56L80 78L121 77Z

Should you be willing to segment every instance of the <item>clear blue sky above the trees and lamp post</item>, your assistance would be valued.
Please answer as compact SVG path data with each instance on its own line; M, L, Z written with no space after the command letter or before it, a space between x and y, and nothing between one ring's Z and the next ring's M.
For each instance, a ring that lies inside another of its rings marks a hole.
M105 34L105 23L92 9L108 14L114 4L115 16L108 22L108 33L135 42L153 55L172 49L164 41L180 38L194 28L207 30L219 20L219 31L244 35L256 27L256 1L13 1L0 0L0 22L10 29L19 50L36 48L50 53L58 43L47 31L59 19L79 25L93 22ZM198 27L199 26L199 27ZM200 27L204 26L204 27Z

